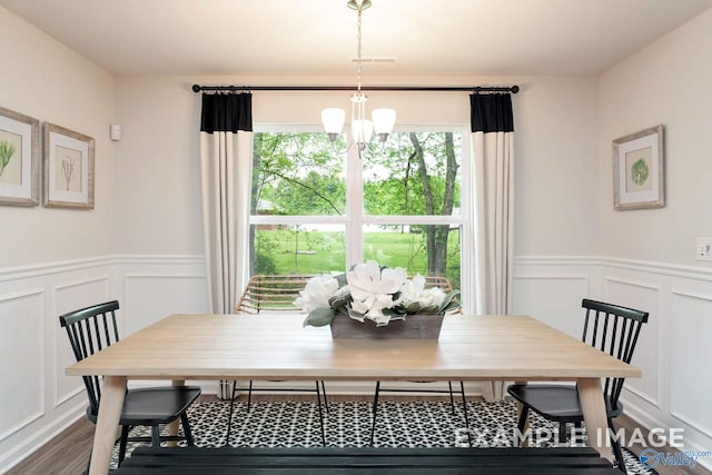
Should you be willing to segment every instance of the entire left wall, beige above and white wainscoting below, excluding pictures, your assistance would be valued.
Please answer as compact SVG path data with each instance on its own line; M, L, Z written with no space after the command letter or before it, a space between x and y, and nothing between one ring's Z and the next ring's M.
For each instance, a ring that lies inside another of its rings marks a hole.
M0 8L0 106L93 137L93 210L0 206L0 472L86 405L57 316L113 295L113 78Z

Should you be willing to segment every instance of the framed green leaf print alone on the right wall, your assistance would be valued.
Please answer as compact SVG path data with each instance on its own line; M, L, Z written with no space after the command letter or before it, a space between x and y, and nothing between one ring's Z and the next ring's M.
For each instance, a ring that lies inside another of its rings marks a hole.
M613 207L663 207L663 126L613 140Z

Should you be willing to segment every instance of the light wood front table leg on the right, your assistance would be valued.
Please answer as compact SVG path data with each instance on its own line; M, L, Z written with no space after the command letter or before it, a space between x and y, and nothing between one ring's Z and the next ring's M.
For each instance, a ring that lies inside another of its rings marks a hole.
M577 387L583 419L586 423L589 445L599 451L602 457L613 463L601 378L581 378L577 382Z

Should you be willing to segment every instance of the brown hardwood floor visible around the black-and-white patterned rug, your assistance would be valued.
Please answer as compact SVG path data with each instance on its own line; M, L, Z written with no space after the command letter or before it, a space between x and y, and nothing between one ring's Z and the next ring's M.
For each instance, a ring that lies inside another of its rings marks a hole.
M312 398L313 396L283 396L283 395L260 395L256 398L266 400L281 400L284 398ZM407 397L409 400L432 399L433 397ZM211 400L215 396L204 395L198 400ZM400 400L406 399L400 397ZM370 396L329 396L330 402L336 400L370 400ZM632 419L621 416L616 419L617 427L624 427L626 432L632 432L639 427ZM7 475L79 475L82 474L93 437L93 424L86 418L76 422L60 435L32 453L24 461L12 467ZM647 432L643 431L646 436ZM630 447L636 455L643 449L642 446ZM675 452L673 448L663 447L659 452ZM712 475L701 466L693 469L686 467L673 467L659 465L656 468L660 475Z

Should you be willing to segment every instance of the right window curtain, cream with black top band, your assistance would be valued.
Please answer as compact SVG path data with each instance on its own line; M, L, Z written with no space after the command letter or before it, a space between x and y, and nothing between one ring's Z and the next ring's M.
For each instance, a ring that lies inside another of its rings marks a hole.
M514 270L514 127L510 95L472 95L477 314L507 315ZM487 402L504 383L483 383Z

